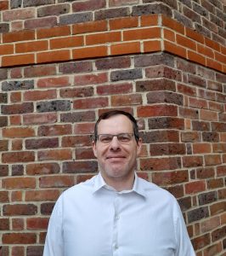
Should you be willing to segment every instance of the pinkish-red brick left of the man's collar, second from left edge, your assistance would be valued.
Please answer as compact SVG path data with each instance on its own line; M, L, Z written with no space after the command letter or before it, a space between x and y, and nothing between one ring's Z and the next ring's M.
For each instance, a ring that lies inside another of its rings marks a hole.
M74 176L49 176L49 177L40 177L39 178L39 187L40 188L63 188L71 187L74 185Z

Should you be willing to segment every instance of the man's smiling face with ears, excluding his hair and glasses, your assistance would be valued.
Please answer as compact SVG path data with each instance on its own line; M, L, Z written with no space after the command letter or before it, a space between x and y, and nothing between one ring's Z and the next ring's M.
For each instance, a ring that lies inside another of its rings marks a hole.
M110 119L102 119L98 125L99 134L133 134L133 124L127 116L118 114ZM93 153L99 161L99 168L105 182L127 180L133 176L136 167L137 155L141 150L141 141L138 143L133 136L127 143L121 143L113 137L110 143L93 142Z

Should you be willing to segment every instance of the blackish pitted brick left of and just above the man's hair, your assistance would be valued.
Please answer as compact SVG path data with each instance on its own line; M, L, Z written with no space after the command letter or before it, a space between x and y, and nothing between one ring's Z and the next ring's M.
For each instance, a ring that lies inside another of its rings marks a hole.
M65 100L56 100L51 102L38 102L37 112L55 112L71 110L71 102Z

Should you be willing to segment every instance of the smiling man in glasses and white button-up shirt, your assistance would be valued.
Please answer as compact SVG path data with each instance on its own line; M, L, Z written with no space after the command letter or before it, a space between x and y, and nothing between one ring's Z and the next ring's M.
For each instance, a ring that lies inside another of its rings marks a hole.
M99 117L99 174L59 197L44 256L195 256L176 199L135 173L141 144L130 113Z

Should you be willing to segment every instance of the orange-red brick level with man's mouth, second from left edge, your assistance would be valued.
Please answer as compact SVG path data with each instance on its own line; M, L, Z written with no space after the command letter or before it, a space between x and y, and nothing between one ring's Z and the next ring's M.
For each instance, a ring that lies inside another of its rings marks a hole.
M37 152L38 160L70 160L72 159L71 149L48 149Z

